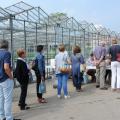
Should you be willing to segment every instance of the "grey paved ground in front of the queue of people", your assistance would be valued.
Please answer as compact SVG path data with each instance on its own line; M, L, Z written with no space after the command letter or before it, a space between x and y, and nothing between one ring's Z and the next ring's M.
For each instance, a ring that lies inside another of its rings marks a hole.
M75 92L69 82L70 99L58 99L51 82L47 83L47 104L38 104L35 84L29 85L27 103L30 110L20 111L17 102L20 89L15 89L13 112L23 120L120 120L120 93L99 90L95 84L83 86L84 92Z

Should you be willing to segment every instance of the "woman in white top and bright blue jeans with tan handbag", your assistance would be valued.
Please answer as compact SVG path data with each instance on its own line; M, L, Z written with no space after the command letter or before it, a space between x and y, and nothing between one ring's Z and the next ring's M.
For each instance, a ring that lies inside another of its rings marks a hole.
M69 73L63 73L60 71L60 68L65 68L65 65L69 64L69 56L67 51L65 51L65 46L63 44L59 45L59 53L55 56L55 70L56 76L58 78L58 98L61 98L61 89L63 87L64 98L67 99L70 96L68 95L67 81L69 77Z

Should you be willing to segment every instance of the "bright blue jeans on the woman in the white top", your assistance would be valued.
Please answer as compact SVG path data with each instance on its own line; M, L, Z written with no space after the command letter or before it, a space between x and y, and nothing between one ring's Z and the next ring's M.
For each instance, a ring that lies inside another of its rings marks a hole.
M64 95L68 95L67 90L67 81L68 81L68 74L57 74L58 77L58 95L61 95L61 89L63 87Z

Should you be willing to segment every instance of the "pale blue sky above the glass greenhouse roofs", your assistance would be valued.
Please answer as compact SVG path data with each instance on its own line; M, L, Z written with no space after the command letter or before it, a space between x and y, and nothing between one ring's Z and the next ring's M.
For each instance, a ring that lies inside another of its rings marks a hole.
M7 7L21 0L0 0L0 7ZM77 21L87 21L120 32L120 0L22 0L40 6L48 14L67 13Z

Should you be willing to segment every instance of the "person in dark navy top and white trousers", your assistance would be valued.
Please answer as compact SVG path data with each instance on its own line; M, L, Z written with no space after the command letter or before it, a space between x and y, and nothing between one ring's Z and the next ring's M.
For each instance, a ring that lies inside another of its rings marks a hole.
M111 88L112 91L120 91L120 61L117 60L117 54L120 54L120 45L117 44L116 39L112 40L112 46L109 48L108 53L111 57Z

